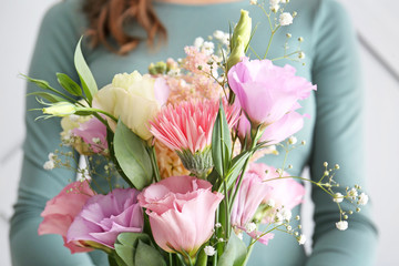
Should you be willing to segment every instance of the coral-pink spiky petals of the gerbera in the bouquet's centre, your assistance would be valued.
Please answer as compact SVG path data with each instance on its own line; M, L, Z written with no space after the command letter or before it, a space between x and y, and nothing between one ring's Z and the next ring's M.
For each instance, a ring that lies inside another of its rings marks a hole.
M218 106L218 101L209 100L168 105L150 122L150 132L173 151L191 151L192 154L204 151L211 145ZM232 127L238 111L227 104L224 109Z

